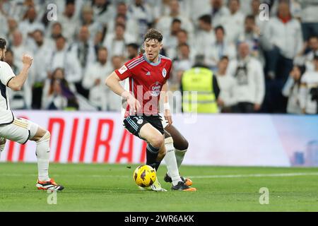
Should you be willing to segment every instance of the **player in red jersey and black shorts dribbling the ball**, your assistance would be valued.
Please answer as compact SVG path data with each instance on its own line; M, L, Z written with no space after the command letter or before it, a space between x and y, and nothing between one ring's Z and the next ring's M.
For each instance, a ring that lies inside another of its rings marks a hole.
M146 164L155 170L158 170L166 152L165 132L158 114L158 105L160 93L168 90L167 79L172 68L172 61L159 54L163 47L162 40L163 35L158 30L148 30L144 37L145 54L126 62L121 69L113 71L105 81L114 93L127 100L124 126L130 133L148 143ZM126 78L129 78L130 92L124 90L119 83ZM167 103L167 95L162 97ZM164 117L168 125L172 124L169 109L165 109ZM161 188L158 178L151 189L166 191Z

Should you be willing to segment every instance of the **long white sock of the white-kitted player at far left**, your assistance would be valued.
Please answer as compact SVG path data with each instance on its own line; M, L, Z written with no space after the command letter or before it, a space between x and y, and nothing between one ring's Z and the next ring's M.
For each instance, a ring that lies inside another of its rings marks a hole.
M49 132L37 141L37 170L41 182L49 181Z

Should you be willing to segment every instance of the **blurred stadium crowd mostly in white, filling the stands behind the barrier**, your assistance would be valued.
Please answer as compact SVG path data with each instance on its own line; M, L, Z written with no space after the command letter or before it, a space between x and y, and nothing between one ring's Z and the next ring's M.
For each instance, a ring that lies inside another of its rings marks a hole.
M315 0L0 0L6 62L18 74L23 53L34 57L11 108L119 111L105 78L156 28L173 60L170 90L200 62L217 78L221 112L317 114L317 12Z

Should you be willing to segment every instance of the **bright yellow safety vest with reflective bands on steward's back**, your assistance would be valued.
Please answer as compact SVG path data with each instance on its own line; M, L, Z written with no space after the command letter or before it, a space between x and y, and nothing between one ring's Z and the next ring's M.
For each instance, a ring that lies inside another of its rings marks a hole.
M182 90L183 112L218 113L211 70L198 67L185 71Z

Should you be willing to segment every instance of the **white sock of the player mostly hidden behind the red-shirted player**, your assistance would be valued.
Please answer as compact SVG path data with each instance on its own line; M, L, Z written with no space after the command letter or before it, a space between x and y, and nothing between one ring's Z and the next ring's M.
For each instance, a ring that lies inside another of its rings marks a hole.
M168 140L166 142L166 140ZM171 138L172 141L172 138ZM182 182L179 170L177 167L177 160L175 158L175 148L173 147L173 141L171 142L169 138L165 139L165 149L167 150L167 153L165 154L165 164L167 165L167 174L172 179L173 186L177 185L178 182Z

